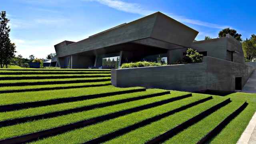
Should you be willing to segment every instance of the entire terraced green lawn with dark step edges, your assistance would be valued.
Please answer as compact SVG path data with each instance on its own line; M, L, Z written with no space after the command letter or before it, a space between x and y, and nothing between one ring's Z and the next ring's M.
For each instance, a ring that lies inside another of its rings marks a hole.
M256 111L256 94L116 88L110 70L1 69L1 78L10 86L0 87L0 143L196 144L230 118L205 143L235 144Z

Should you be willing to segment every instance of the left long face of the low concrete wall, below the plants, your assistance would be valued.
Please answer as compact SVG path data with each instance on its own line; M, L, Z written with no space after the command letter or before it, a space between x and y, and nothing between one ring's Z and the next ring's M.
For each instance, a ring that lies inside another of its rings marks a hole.
M206 63L112 69L111 83L117 87L205 90Z

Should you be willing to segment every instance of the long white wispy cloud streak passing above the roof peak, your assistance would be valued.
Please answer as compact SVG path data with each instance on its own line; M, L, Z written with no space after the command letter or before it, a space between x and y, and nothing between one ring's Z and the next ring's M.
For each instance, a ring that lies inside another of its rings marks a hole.
M153 10L146 10L145 8L142 8L142 6L140 6L140 4L123 2L121 0L84 0L84 1L99 2L100 4L104 4L106 6L114 8L116 10L120 10L120 11L123 11L123 12L134 13L134 14L140 14L140 15L143 15L143 16L146 16L148 14L152 14L152 13L156 12L156 11L153 11ZM209 22L203 22L203 21L200 21L200 20L189 19L189 18L186 18L184 16L177 16L175 14L170 14L170 13L165 13L165 14L170 16L171 18L174 18L175 20L178 20L179 22L195 24L195 25L199 25L199 26L206 26L206 27L209 27L209 28L219 28L219 29L230 27L230 26L225 26L225 25L212 24L212 23L209 23Z

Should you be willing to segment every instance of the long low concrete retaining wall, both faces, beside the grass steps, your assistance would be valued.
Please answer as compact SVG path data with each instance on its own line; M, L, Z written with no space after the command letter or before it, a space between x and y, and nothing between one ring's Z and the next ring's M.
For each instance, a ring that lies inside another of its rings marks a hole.
M111 83L117 87L142 86L180 91L235 91L241 77L243 87L253 72L252 66L204 56L202 63L124 68L111 70Z

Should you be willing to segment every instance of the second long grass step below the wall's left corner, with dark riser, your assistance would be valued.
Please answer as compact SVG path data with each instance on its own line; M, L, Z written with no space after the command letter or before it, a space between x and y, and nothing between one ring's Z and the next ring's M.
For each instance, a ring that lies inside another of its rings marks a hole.
M52 118L55 116L70 114L72 112L81 112L85 110L91 110L94 108L102 108L102 107L111 106L114 104L121 104L124 102L131 102L135 100L141 100L144 98L161 96L164 94L170 94L170 91L151 89L151 90L147 90L146 92L135 92L130 94L121 94L118 96L115 95L115 96L108 96L105 98L97 98L93 100L70 102L68 104L64 103L64 104L30 108L30 109L18 110L18 111L12 111L12 112L3 112L3 113L0 113L0 117L4 118L4 120L2 121L0 119L0 127L10 125L10 124L17 124L19 122L38 120L42 118ZM49 110L52 110L52 111L49 112ZM48 112L45 112L45 111L48 111ZM29 116L26 116L26 114L29 114ZM20 116L20 117L15 118L14 116Z

